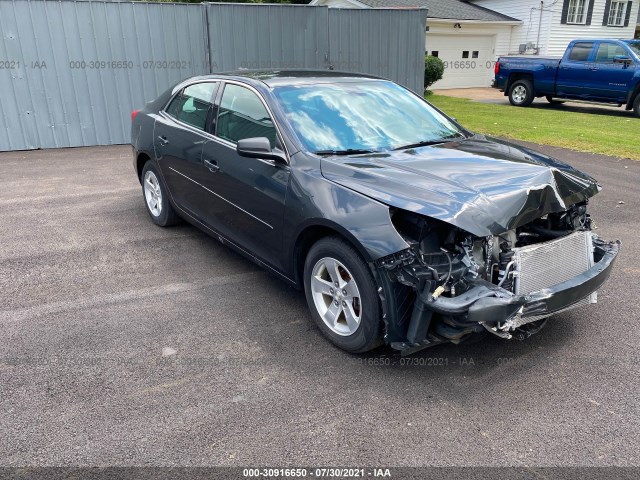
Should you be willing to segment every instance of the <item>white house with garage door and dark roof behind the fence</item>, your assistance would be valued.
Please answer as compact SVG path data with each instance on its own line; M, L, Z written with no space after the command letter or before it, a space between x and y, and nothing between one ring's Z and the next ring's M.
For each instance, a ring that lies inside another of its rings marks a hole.
M562 55L576 38L633 38L640 0L312 0L335 8L427 8L426 52L445 62L433 88L489 86L500 55Z

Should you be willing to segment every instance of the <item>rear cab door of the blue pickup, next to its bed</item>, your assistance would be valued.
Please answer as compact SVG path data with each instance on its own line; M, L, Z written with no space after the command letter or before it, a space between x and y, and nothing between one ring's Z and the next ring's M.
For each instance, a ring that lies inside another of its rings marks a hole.
M556 92L560 96L588 99L593 93L594 42L576 42L560 62Z

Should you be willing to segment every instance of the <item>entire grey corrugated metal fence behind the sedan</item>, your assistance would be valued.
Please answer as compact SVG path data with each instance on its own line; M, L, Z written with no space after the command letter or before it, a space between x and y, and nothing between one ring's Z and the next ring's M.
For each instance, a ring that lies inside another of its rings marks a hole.
M241 68L370 73L423 88L425 10L0 1L0 150L129 142L183 78Z

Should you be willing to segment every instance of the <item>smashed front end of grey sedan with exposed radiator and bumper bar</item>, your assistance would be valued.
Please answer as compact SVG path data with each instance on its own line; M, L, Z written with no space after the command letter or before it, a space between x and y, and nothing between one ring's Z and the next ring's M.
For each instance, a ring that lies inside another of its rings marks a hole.
M410 247L376 267L387 342L403 353L485 330L525 339L595 303L620 248L592 232L586 202L486 237L404 210L392 221Z

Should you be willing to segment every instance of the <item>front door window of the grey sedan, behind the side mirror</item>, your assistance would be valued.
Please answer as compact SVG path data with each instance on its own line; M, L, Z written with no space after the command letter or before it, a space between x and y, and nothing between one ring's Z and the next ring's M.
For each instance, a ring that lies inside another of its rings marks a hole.
M276 146L276 129L260 98L240 85L227 84L216 122L216 135L237 143L244 138L266 137Z

